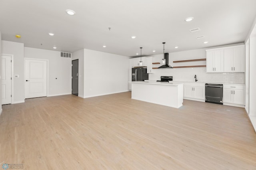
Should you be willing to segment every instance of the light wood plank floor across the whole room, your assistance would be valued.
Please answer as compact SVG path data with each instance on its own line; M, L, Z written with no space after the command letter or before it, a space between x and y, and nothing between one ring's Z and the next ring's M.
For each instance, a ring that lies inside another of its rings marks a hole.
M256 169L256 133L244 108L184 100L175 109L130 92L2 108L0 163L29 170Z

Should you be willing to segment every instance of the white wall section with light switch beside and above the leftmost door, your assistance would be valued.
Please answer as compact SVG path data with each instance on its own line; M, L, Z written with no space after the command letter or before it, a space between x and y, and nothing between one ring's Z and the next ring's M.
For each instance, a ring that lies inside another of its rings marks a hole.
M24 44L17 42L2 41L2 54L13 55L14 75L14 103L22 103L25 99L24 93Z

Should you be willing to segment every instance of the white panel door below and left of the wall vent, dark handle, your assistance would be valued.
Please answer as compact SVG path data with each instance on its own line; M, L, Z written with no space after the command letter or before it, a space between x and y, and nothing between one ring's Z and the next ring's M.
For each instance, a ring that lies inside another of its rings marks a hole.
M47 61L25 59L25 98L46 96Z

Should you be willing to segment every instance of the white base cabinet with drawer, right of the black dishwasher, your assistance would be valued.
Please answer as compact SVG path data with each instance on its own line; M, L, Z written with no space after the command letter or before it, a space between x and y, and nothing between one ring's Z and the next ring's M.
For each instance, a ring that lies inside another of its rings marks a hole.
M244 107L244 85L223 85L223 105Z

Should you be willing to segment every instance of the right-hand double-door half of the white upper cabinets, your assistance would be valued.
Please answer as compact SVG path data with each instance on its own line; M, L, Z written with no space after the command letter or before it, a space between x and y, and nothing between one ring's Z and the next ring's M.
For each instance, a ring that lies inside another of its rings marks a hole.
M244 45L224 49L224 72L244 72Z

